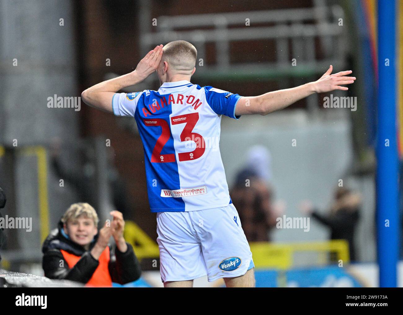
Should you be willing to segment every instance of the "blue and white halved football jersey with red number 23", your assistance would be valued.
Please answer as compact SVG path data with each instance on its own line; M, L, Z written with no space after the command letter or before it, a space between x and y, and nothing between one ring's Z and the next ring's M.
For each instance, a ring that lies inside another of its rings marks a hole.
M238 94L187 80L158 91L116 93L116 116L134 117L144 147L152 212L195 211L232 203L219 141L221 115L235 119Z

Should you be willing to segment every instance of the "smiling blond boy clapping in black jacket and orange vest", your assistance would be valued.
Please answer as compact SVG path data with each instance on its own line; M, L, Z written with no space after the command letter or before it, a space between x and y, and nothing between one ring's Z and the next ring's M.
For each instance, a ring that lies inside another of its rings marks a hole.
M42 268L50 279L65 279L87 286L112 286L137 280L141 270L133 247L125 242L122 213L112 211L113 221L98 233L98 216L86 203L73 204L46 238ZM108 246L113 236L116 246Z

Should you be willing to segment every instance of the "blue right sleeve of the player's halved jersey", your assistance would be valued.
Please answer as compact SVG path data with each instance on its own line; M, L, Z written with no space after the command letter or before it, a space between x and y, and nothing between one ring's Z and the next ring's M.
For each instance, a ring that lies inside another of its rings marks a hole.
M228 91L206 87L206 99L212 110L218 115L239 119L241 115L235 116L235 107L241 98L239 94L233 94Z

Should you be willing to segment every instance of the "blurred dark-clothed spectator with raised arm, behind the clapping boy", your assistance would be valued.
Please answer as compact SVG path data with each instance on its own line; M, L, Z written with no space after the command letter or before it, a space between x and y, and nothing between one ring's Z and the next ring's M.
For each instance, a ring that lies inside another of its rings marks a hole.
M110 148L109 152L113 152L113 148ZM93 204L96 208L99 208L98 199L96 196L96 168L93 156L95 154L88 152L88 148L85 148L80 153L81 165L77 169L66 169L60 163L60 139L55 138L52 143L52 166L56 173L56 176L63 179L67 183L76 187L79 194L79 200ZM127 198L127 189L125 182L119 176L118 171L114 168L114 154L108 154L108 168L105 170L110 185L112 204L115 209L123 213L124 216L128 216L131 213L131 205Z

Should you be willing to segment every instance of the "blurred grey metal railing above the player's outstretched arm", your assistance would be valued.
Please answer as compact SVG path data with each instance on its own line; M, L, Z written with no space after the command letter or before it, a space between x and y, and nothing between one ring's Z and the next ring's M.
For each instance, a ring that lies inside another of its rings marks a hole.
M329 64L344 66L343 26L338 24L343 17L343 9L337 5L160 16L156 19L156 32L144 33L140 38L140 47L144 55L150 46L181 39L193 43L198 51L198 58L205 60L206 44L214 43L216 64L204 63L195 73L198 78L262 80L285 76L306 77L322 72ZM245 25L247 19L250 26ZM270 23L271 26L258 26L264 23ZM256 39L275 41L275 62L231 64L231 42ZM318 58L316 54L317 43L323 51L323 58ZM297 67L291 67L292 58L297 59Z

